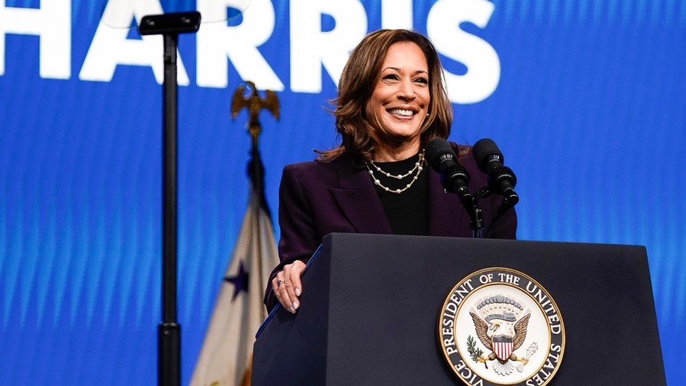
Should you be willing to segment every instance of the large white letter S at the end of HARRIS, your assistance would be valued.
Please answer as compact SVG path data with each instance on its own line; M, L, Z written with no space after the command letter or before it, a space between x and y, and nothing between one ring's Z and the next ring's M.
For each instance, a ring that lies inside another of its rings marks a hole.
M438 0L429 10L427 35L436 49L467 67L465 75L445 73L453 103L483 101L498 87L500 59L495 49L480 37L460 29L463 22L485 28L494 9L486 0Z

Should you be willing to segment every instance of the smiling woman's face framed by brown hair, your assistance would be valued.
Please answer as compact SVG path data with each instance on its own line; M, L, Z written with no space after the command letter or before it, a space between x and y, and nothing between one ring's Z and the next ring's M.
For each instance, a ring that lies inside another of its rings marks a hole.
M413 42L392 44L366 106L369 121L381 124L375 131L377 140L381 144L416 142L419 146L430 101L429 66L424 53Z

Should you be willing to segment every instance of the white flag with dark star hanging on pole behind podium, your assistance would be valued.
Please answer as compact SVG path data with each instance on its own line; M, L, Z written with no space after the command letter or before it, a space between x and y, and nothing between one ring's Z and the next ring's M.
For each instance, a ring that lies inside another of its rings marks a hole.
M248 210L223 276L191 386L250 385L252 345L267 315L262 303L266 280L279 262L261 185L259 155L253 153L250 165Z

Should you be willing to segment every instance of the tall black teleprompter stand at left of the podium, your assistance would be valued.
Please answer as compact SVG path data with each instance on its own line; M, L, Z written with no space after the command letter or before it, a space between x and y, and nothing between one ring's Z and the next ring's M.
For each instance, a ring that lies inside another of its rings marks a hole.
M157 384L181 384L181 326L176 321L176 49L179 33L195 33L200 12L147 15L141 35L164 36L164 87L162 100L162 322L157 336Z

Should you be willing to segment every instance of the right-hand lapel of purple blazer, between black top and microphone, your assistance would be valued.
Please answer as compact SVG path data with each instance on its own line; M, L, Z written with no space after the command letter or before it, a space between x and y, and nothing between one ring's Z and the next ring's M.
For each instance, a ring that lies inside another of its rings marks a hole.
M429 235L457 237L465 210L454 193L446 193L440 175L429 171Z

